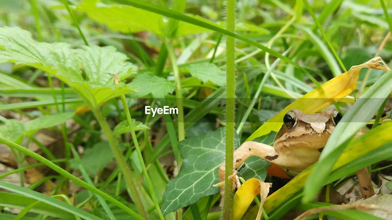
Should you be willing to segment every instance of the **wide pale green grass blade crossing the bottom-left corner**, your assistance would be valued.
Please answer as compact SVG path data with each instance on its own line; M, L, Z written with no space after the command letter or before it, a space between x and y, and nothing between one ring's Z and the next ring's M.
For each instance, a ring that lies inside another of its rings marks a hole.
M67 212L72 213L74 215L80 216L81 218L84 218L86 220L87 219L88 220L102 220L102 218L98 218L97 216L94 216L93 214L88 213L88 212L84 211L83 209L79 209L79 208L71 206L65 202L61 202L60 200L57 200L55 198L49 197L47 195L33 191L31 189L26 189L26 188L23 188L20 186L16 186L16 185L11 184L9 182L0 181L0 188L7 189L9 191L13 191L15 193L24 195L26 197L34 198L38 201L44 202L46 204L57 207L59 209L62 209L64 211L67 211Z

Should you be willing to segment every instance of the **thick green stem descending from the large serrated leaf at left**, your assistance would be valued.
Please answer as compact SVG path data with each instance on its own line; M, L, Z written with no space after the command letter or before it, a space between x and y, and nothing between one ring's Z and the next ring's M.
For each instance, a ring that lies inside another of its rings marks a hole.
M107 124L107 121L102 116L102 113L99 109L92 109L92 111L94 112L94 115L98 120L98 123L101 125L102 131L103 133L105 133L107 137L107 141L109 142L109 145L112 148L114 157L116 157L118 166L120 167L120 170L124 176L125 182L127 184L127 188L129 189L133 197L132 200L134 201L140 215L145 219L149 219L147 212L145 211L146 209L144 208L144 205L142 203L142 198L140 197L138 189L136 188L136 184L132 180L131 170L129 169L127 163L125 162L124 156L122 155L122 152L117 145L116 139L114 138L113 133L110 130L109 124Z

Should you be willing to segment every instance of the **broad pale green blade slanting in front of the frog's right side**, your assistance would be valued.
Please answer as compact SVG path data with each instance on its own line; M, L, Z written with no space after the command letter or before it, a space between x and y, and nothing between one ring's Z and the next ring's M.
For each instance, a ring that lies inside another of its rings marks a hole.
M379 106L392 91L390 85L392 85L392 70L381 76L343 116L325 144L316 167L305 184L304 202L310 202L316 197L319 189L326 184L325 180L345 149L345 144L377 112Z

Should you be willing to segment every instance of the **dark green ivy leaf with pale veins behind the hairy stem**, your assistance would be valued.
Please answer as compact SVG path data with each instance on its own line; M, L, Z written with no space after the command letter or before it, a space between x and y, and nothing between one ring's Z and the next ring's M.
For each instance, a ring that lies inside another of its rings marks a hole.
M274 134L269 134L274 136ZM268 136L268 135L266 135ZM162 212L163 215L175 211L180 207L185 207L200 200L207 195L219 192L218 187L213 184L218 182L218 168L225 157L225 131L220 128L214 132L198 137L185 139L178 143L183 163L180 173L172 179L163 194ZM260 137L270 142L270 137ZM234 147L238 148L239 140L236 137ZM261 160L259 158L259 160ZM208 161L208 162L206 162ZM246 178L252 178L252 171L257 172L256 177L265 179L269 162L267 161L245 161L247 169ZM260 167L263 167L261 169ZM245 168L243 168L245 169ZM246 170L246 169L245 169ZM241 176L241 170L239 176Z

